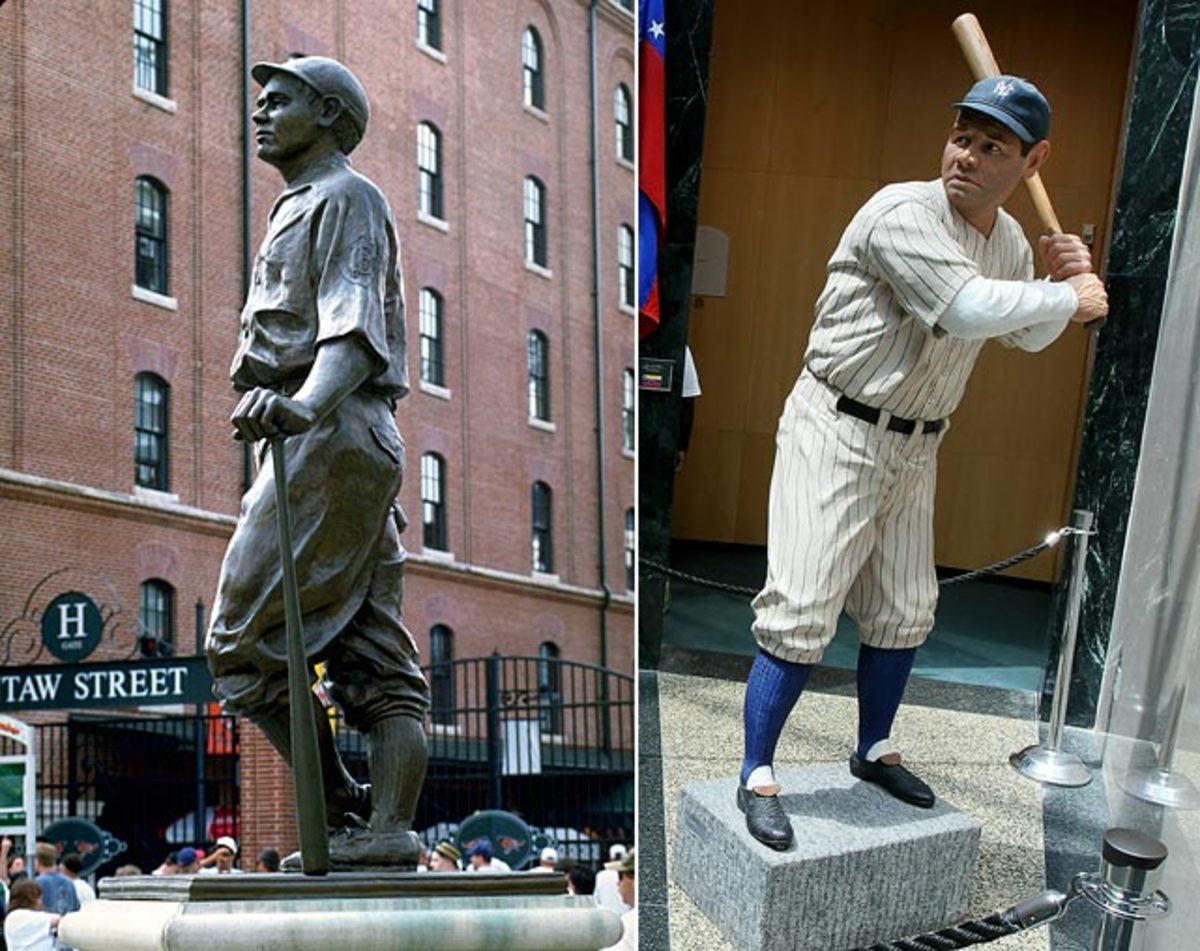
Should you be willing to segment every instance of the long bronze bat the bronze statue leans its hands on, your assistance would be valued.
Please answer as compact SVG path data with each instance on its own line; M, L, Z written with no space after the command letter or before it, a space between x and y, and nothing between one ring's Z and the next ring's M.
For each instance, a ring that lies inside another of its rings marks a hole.
M292 509L283 438L271 439L275 465L275 507L280 524L280 566L283 570L283 622L288 645L288 713L292 719L292 774L296 790L296 823L304 874L329 873L329 832L325 829L325 785L317 746L317 714L308 695L312 669L304 647L300 586L292 551Z

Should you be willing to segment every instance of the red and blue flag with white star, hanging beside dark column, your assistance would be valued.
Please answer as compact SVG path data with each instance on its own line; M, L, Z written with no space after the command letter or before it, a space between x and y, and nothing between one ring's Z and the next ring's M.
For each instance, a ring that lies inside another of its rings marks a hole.
M662 0L637 11L637 312L638 336L659 325L659 255L666 233L666 59Z

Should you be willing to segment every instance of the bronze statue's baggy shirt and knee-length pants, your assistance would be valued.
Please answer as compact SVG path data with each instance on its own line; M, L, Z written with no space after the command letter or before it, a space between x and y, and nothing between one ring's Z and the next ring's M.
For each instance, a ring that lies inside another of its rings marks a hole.
M422 717L428 689L401 620L404 445L395 400L408 391L403 285L386 199L342 156L276 199L254 261L230 376L292 395L317 349L352 337L372 375L316 426L284 442L293 549L308 657L352 725ZM208 656L215 693L252 718L286 705L287 645L269 444L221 568Z

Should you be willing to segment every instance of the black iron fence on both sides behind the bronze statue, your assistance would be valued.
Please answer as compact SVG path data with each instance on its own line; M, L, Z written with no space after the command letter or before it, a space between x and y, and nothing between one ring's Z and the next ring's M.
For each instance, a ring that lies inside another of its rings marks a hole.
M562 857L599 862L634 838L634 678L552 657L491 657L426 669L428 772L416 829L433 843L481 809L504 809ZM215 710L215 707L212 708ZM338 747L367 778L364 738ZM239 722L74 713L37 728L37 827L82 818L126 843L102 866L155 868L166 851L240 837Z

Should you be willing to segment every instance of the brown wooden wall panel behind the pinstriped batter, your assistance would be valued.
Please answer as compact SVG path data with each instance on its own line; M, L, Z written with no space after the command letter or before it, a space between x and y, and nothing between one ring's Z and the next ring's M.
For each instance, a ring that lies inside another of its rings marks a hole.
M728 234L730 271L726 297L692 305L704 395L676 537L766 542L775 425L824 264L874 191L938 174L950 103L971 83L949 30L960 12L943 0L763 0L750 18L718 5L700 221ZM983 0L974 12L1001 66L1050 98L1044 179L1064 227L1094 225L1103 247L1135 0ZM1008 210L1036 241L1024 189ZM1040 354L984 349L942 447L938 563L983 564L1064 521L1088 346L1069 328ZM1039 558L1014 574L1052 570Z

